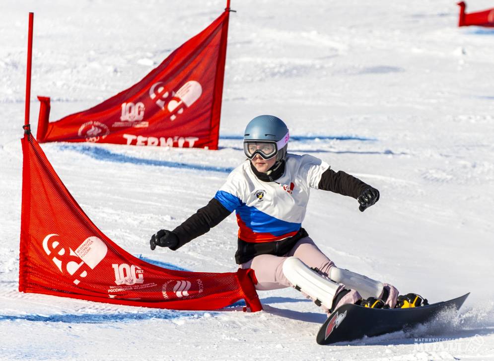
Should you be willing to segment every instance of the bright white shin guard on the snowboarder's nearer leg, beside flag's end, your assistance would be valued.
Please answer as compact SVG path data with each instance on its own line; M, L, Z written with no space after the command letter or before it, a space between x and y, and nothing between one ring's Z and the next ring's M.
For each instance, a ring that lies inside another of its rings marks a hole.
M283 275L295 289L318 299L328 309L332 308L333 298L341 288L340 284L319 275L296 257L288 257L283 262Z

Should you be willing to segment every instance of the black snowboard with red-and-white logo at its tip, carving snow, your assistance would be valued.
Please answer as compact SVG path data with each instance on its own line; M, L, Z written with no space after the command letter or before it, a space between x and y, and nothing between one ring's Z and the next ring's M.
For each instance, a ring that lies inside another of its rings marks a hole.
M415 308L378 309L345 304L323 323L316 340L319 345L329 345L410 328L431 320L445 309L459 310L469 294Z

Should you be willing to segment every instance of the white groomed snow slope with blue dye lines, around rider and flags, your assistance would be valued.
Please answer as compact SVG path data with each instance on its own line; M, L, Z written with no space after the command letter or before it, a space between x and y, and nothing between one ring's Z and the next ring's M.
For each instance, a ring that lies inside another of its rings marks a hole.
M166 267L228 272L233 216L176 252L152 252L148 239L211 199L244 159L248 120L284 119L298 136L290 151L381 192L365 213L351 198L313 192L304 227L338 266L432 302L472 292L459 318L322 347L315 334L325 316L293 289L260 292L265 311L253 314L17 292L28 11L36 129L36 95L52 97L53 120L97 104L206 27L224 1L4 0L0 360L494 360L494 30L458 29L454 2L233 0L220 150L42 145L83 210L124 249Z

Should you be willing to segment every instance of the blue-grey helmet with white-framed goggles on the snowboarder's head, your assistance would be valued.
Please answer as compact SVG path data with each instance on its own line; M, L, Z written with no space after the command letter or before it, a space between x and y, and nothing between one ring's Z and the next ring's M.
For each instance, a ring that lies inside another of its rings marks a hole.
M276 155L276 160L280 161L286 156L289 138L288 128L280 118L273 115L260 115L252 119L245 128L245 155L249 159L256 154L264 159L270 159ZM254 144L257 144L257 148ZM260 144L266 146L261 147Z

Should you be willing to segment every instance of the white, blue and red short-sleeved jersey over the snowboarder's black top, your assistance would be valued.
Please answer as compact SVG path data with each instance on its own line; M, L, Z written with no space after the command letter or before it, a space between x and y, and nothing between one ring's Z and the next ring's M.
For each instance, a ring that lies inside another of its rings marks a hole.
M214 198L229 212L236 212L238 238L247 242L282 240L300 230L310 188L318 188L329 167L312 155L288 153L282 177L263 182L246 160L229 174Z

